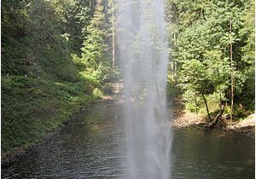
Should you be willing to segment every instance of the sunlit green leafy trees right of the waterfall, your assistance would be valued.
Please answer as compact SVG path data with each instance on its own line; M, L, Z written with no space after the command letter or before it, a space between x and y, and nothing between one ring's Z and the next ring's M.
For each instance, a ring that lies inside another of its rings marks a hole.
M254 111L254 1L166 1L172 84L192 112ZM172 88L173 89L173 88ZM205 101L204 101L205 99Z

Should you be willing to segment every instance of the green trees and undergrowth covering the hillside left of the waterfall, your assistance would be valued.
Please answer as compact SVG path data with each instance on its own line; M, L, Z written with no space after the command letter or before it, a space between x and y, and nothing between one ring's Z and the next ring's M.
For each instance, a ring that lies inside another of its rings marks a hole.
M107 7L101 0L2 1L3 153L30 146L111 93Z

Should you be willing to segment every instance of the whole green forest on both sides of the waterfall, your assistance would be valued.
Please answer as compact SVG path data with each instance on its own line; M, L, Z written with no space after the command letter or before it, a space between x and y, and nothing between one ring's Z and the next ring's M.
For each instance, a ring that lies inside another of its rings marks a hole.
M1 149L11 153L112 95L122 73L118 6L115 0L1 5ZM209 121L221 110L230 121L254 113L254 9L253 0L165 1L169 101Z

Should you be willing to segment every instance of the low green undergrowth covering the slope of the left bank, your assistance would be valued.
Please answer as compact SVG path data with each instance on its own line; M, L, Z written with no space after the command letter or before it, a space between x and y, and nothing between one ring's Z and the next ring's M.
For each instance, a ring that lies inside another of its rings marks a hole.
M96 101L90 82L2 77L2 153L29 147Z

